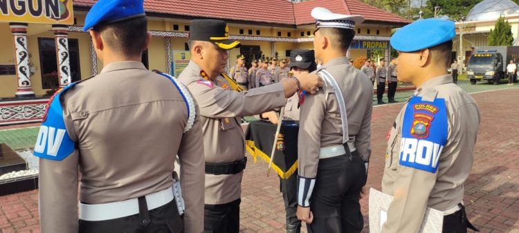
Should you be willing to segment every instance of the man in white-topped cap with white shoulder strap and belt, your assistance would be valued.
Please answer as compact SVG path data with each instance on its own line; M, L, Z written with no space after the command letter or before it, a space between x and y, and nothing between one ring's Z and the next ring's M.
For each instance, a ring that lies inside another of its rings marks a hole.
M311 15L317 21L313 47L323 63L317 73L326 84L301 101L297 216L308 232L361 232L373 89L346 54L355 23L364 18L326 8Z

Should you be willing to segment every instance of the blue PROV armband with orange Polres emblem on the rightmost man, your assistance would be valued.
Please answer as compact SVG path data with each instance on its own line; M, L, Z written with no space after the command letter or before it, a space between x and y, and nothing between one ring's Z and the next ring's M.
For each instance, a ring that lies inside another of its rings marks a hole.
M447 143L448 120L444 99L412 97L402 123L399 164L435 173Z

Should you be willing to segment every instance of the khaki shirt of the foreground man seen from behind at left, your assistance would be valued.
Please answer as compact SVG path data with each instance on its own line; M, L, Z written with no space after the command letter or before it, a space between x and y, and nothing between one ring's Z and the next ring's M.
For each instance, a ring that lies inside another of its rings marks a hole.
M170 188L176 154L183 167L185 232L203 230L201 119L197 112L183 133L188 109L172 81L143 63L122 61L62 97L66 131L77 148L62 161L39 159L42 232L78 232L78 181L79 199L88 204Z

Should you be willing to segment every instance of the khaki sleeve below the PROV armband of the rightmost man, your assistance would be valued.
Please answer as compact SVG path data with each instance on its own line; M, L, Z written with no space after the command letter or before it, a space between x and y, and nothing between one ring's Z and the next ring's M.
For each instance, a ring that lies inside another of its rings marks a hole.
M388 209L388 221L382 232L419 232L430 192L438 172L428 172L403 165L394 183L394 199Z

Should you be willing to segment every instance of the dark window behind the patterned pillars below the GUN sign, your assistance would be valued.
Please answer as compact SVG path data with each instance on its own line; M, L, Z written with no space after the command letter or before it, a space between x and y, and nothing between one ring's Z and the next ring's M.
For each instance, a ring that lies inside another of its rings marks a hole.
M42 72L42 88L55 89L60 83L57 78L56 43L54 38L38 38L39 65ZM78 39L69 38L71 81L81 80L80 48Z

